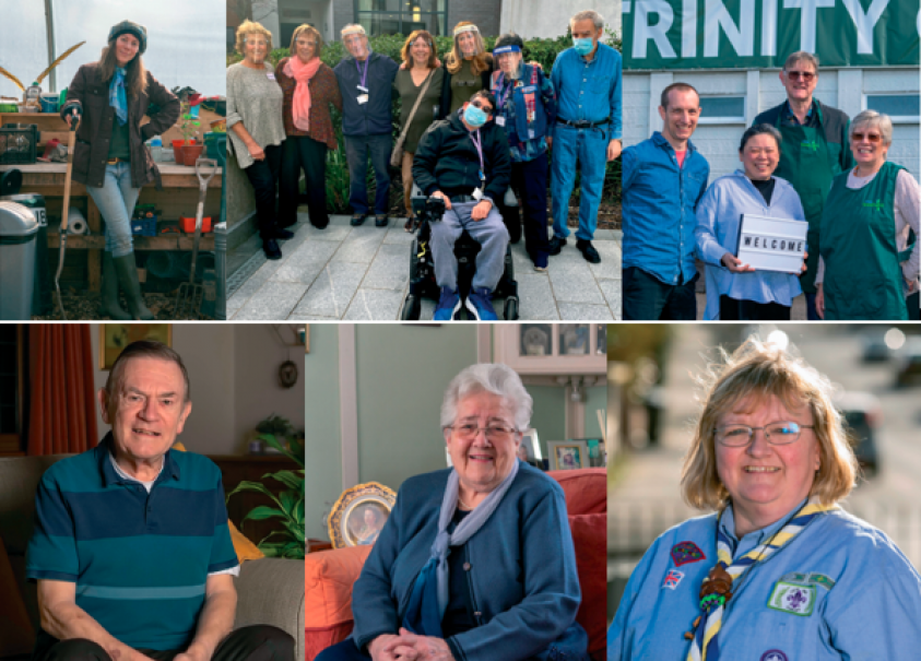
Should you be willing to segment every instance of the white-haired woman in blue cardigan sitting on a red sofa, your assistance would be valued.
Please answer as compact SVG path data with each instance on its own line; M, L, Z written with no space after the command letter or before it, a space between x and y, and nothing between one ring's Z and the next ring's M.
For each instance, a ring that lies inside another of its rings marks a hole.
M563 489L516 457L530 417L509 367L454 377L453 468L403 483L353 589L352 638L317 661L587 659Z

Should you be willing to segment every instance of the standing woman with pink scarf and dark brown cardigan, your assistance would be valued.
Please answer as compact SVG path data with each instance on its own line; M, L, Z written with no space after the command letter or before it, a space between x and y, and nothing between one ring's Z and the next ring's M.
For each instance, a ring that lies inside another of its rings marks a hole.
M312 25L300 25L291 36L291 54L275 67L275 80L284 93L282 121L285 127L279 182L279 225L297 223L300 170L307 186L310 224L329 225L327 213L327 150L336 149L330 106L342 111L339 82L320 61L323 38Z

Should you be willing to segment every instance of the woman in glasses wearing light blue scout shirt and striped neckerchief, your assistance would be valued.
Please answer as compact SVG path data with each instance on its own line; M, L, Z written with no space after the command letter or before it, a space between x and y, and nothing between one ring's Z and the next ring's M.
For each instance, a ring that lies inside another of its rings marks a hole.
M711 370L685 500L630 577L609 661L909 661L921 576L836 505L857 462L828 379L749 339Z

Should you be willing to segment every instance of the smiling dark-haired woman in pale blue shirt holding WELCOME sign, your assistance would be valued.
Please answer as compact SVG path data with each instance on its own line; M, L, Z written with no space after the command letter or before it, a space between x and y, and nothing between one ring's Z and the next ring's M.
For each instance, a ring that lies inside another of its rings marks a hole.
M802 293L799 273L756 270L735 256L743 214L806 222L800 196L772 176L780 161L780 140L769 125L745 131L739 146L743 169L713 181L697 205L697 253L707 263L705 319L789 321L793 298ZM778 256L789 253L786 240L767 247Z

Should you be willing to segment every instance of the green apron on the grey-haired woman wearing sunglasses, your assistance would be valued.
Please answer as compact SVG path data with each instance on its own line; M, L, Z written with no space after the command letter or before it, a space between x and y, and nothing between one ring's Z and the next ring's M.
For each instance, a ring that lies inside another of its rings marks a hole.
M826 320L908 320L896 243L900 165L885 163L861 189L835 178L822 214Z

